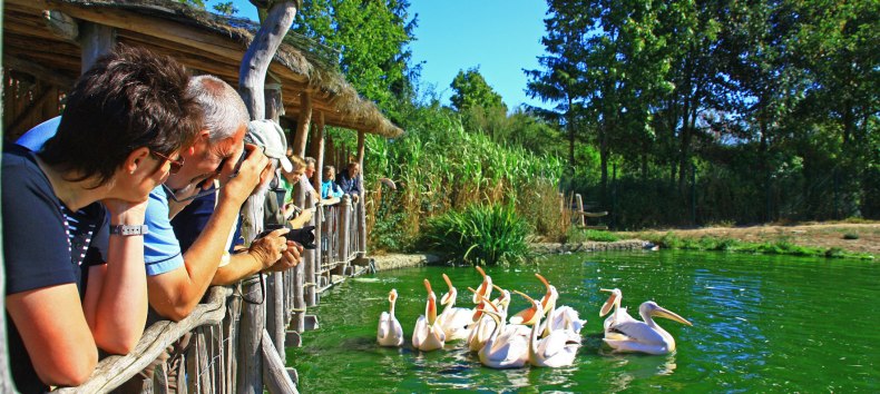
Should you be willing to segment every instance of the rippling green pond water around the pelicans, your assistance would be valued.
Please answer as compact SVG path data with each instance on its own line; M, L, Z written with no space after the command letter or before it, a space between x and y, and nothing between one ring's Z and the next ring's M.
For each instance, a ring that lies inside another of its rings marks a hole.
M320 329L289 348L304 393L421 392L880 392L880 266L873 262L724 253L607 253L554 256L535 265L489 267L493 282L534 297L541 273L589 322L575 364L566 368L491 370L463 342L430 353L410 345L424 311L428 278L438 298L442 273L472 307L473 268L420 267L354 278L310 314ZM623 290L637 316L653 299L694 326L659 318L676 339L666 356L610 354L603 347L599 288ZM397 288L401 348L375 344L379 315ZM492 296L497 295L493 293ZM511 313L527 307L515 296Z

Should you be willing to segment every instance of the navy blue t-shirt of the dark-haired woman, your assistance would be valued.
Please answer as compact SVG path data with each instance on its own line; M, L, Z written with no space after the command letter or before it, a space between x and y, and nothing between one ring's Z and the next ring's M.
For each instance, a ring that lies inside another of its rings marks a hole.
M104 206L95 203L71 214L55 195L33 152L21 146L10 145L4 150L0 179L6 295L72 283L81 297L88 268L107 260L109 216ZM10 367L18 390L48 390L37 376L8 314L7 329Z

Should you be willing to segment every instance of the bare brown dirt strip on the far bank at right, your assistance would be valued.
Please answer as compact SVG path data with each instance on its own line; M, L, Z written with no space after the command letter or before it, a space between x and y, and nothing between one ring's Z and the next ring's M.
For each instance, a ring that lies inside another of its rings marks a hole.
M696 229L662 229L624 233L638 237L639 234L666 234L672 232L679 237L700 238L704 235L727 237L744 242L762 243L789 240L801 246L822 248L839 247L844 250L880 256L880 223L874 224L808 224L795 226L752 226L752 227L708 227ZM858 239L844 239L847 234Z

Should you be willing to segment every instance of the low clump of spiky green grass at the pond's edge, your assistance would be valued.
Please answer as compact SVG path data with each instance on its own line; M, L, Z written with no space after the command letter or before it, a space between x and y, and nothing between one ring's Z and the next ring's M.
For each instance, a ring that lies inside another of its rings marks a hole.
M426 238L450 259L478 265L522 262L528 223L512 204L471 205L429 220Z

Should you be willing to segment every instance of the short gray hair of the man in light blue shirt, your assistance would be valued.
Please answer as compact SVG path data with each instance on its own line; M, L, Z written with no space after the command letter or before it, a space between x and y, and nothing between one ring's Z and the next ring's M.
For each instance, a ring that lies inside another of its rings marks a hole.
M187 91L205 112L203 128L207 129L211 142L229 138L251 120L238 92L214 76L197 76L189 79Z

